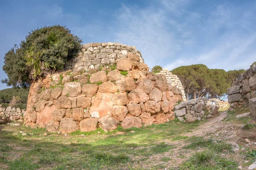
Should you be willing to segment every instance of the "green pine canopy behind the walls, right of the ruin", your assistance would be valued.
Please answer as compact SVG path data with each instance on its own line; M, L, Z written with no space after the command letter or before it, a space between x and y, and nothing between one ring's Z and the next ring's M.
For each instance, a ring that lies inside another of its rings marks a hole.
M203 96L218 97L226 93L234 80L245 70L224 71L223 69L209 69L206 65L196 64L181 66L171 71L176 74L183 84L186 98Z

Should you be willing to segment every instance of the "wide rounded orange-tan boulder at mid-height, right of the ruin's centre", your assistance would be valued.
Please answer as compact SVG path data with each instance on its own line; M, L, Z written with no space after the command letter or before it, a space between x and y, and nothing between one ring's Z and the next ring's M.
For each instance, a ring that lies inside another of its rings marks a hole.
M144 103L149 100L149 96L140 88L136 88L128 94L128 99L132 103Z

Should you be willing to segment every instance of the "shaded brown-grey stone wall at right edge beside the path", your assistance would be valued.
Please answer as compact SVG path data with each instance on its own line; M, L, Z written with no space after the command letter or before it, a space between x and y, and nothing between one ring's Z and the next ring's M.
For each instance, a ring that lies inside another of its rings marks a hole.
M227 88L230 109L238 108L248 103L250 99L256 98L256 65L249 68L244 74L239 75L234 86Z

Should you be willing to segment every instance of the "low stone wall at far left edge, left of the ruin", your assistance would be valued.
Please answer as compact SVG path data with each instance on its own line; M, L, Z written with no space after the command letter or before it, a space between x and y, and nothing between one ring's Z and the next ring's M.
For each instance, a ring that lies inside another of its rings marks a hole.
M23 121L24 116L26 116L25 110L20 110L20 108L12 108L10 106L3 108L3 106L0 105L0 123L7 123L14 120Z

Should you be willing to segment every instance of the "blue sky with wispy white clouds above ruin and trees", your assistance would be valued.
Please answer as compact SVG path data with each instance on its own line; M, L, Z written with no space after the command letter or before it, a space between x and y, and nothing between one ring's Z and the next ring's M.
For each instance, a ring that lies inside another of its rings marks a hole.
M247 69L256 61L255 16L254 0L1 0L0 67L29 31L60 24L83 43L136 46L151 68Z

